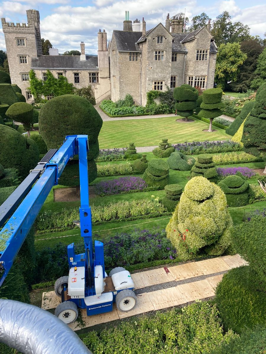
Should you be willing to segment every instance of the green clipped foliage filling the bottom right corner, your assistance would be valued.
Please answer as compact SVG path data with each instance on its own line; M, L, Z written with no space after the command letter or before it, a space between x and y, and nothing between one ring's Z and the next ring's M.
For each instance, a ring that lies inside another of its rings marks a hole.
M261 350L260 350L261 349ZM262 354L266 350L266 329L255 327L242 332L229 343L222 342L212 354Z

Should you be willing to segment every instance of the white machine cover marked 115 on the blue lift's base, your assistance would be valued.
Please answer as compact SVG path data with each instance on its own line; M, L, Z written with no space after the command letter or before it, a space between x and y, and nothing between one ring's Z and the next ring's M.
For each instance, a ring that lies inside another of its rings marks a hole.
M69 270L68 295L73 299L84 299L85 297L85 267L74 267Z

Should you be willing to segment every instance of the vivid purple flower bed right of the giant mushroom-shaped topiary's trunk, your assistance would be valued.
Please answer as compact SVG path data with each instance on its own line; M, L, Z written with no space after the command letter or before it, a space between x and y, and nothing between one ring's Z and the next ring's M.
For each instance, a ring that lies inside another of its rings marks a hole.
M95 192L100 195L110 195L129 192L129 190L143 190L146 187L148 187L147 183L140 177L121 177L95 184Z

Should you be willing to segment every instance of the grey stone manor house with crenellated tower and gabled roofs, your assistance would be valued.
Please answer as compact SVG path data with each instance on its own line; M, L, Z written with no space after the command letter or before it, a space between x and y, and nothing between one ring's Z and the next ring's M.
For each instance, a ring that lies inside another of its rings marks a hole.
M28 23L8 23L1 19L5 35L11 82L21 89L27 102L34 100L29 86L29 70L46 80L49 69L55 77L63 75L77 88L91 85L96 103L110 98L123 99L127 93L135 104L146 104L150 90L165 91L182 84L203 89L214 85L217 46L207 27L182 33L182 20L170 19L146 30L146 23L126 20L123 30L114 30L107 46L105 30L98 32L98 56L86 55L81 42L81 56L62 56L58 49L43 55L40 15L27 10ZM210 21L209 21L210 22ZM52 95L47 97L52 98Z

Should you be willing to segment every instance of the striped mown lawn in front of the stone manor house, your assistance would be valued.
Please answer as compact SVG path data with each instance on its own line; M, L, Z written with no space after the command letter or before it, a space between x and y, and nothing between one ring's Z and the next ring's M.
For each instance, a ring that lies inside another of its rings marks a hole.
M171 144L184 143L186 141L214 141L230 139L225 130L215 127L216 132L203 132L209 128L209 124L201 120L193 119L191 123L178 123L179 116L132 119L103 122L100 134L100 149L123 148L129 143L135 146L158 145L164 138Z

